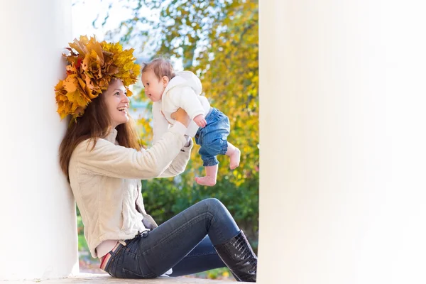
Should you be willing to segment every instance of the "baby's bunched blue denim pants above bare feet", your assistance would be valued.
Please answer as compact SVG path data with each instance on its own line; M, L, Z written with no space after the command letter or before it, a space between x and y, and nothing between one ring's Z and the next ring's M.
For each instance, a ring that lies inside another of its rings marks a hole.
M212 108L206 116L207 126L200 127L195 133L195 143L201 146L198 153L201 155L203 166L217 165L216 156L224 155L228 150L230 126L228 116L219 109Z

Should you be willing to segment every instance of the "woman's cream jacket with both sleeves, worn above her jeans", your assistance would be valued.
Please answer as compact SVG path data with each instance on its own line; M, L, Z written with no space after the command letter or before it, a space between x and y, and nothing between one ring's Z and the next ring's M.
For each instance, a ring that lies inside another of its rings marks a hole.
M89 140L75 148L68 173L92 257L97 257L95 249L102 241L133 239L138 231L157 226L143 206L141 180L185 170L193 146L191 139L190 146L183 147L186 130L177 123L142 151L117 145L115 129L99 138L93 150Z

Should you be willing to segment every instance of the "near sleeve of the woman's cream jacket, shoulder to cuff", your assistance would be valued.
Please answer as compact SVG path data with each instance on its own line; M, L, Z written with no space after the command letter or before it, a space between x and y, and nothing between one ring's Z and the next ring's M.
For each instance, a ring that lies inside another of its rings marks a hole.
M180 154L186 143L185 131L186 127L177 123L164 133L162 139L144 151L117 146L104 139L98 139L92 149L94 142L86 140L75 148L74 154L79 168L83 170L112 178L148 180L164 173L170 162ZM179 160L181 158L175 163Z

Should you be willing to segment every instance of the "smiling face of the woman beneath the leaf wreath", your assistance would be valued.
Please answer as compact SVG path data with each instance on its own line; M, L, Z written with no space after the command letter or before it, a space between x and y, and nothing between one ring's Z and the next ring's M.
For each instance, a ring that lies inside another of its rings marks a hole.
M104 92L105 104L109 117L111 118L111 126L115 129L119 124L125 124L129 121L129 97L126 96L126 88L121 80L111 80L107 91Z

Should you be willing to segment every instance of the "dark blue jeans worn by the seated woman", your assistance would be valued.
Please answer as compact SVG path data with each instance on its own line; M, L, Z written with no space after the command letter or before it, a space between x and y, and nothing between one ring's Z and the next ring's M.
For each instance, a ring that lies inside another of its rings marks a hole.
M225 267L213 246L238 233L224 204L209 198L152 231L126 240L126 246L119 244L109 252L105 271L116 278L155 278L170 268L172 276L179 276Z

